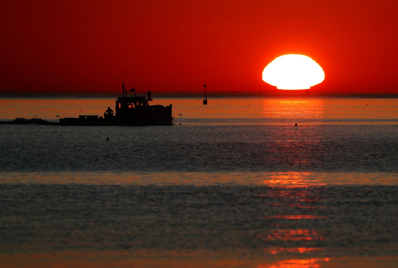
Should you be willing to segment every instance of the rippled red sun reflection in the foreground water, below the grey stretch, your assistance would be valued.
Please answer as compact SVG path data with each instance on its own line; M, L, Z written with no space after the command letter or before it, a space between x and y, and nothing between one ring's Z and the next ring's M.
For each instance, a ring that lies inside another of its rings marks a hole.
M326 237L316 222L326 216L322 214L321 197L313 189L325 183L312 176L311 172L278 172L263 183L271 186L267 195L272 197L272 201L267 203L270 212L265 215L271 228L258 234L258 239L265 245L264 253L283 256L324 251L321 242ZM316 261L300 261L283 261L272 267L319 267Z

